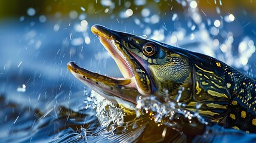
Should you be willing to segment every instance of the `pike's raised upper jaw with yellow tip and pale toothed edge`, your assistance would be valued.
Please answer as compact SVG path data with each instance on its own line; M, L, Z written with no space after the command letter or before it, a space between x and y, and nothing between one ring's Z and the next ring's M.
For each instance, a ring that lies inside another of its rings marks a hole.
M92 26L91 31L98 36L100 42L110 52L123 76L134 77L135 82L132 83L135 83L138 92L141 95L152 94L152 80L150 81L150 73L146 70L149 67L146 63L139 62L140 57L134 57L123 45L125 36L131 34L107 29L100 25Z

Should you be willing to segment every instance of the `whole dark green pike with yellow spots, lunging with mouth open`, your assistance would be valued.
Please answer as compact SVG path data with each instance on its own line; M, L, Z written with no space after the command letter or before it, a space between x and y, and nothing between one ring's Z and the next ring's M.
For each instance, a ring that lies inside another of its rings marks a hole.
M226 128L256 132L256 82L216 58L131 33L94 25L92 32L110 52L124 77L103 76L70 61L67 68L108 100L134 109L138 95L174 100Z

